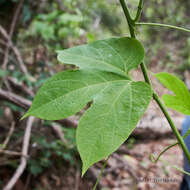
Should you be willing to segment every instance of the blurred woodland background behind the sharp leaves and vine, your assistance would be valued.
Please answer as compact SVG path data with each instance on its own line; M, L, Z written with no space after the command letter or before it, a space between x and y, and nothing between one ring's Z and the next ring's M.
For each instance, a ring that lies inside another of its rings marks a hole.
M135 15L138 0L128 0L128 4ZM190 28L189 10L187 0L149 0L145 1L140 21ZM189 34L150 26L138 26L136 33L145 47L149 70L175 73L190 87ZM71 68L57 62L56 50L111 36L129 36L118 0L0 0L0 189L26 160L15 190L92 189L103 162L81 179L75 129L84 110L57 122L20 118L46 79ZM135 80L143 79L138 69L132 75ZM151 78L162 95L166 90ZM170 113L180 128L184 116ZM179 147L167 152L158 164L149 161L151 153L158 154L175 142L162 117L152 102L139 127L111 156L100 190L178 189L182 174L172 165L183 165ZM27 129L31 136L24 141ZM27 141L28 153L23 152ZM27 159L23 157L26 153ZM147 178L171 180L143 180Z

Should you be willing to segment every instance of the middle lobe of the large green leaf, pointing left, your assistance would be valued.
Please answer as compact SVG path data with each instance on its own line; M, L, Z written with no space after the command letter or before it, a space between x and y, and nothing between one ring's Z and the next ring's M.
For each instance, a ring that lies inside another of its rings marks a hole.
M51 77L40 88L23 118L33 115L46 120L69 117L90 102L110 83L127 77L102 71L65 71Z

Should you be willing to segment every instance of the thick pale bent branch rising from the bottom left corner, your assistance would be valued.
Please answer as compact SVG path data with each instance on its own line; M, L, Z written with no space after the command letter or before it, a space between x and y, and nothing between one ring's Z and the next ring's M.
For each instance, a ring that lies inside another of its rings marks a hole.
M33 122L34 122L34 117L29 117L27 120L26 130L25 130L25 134L24 134L22 155L28 155L30 135L31 135L31 129L32 129ZM16 182L18 181L18 179L24 172L24 169L26 168L26 164L27 164L27 158L25 156L22 156L19 167L15 171L14 175L12 176L12 178L8 182L8 184L3 188L3 190L11 190L14 187L14 185L16 184Z

